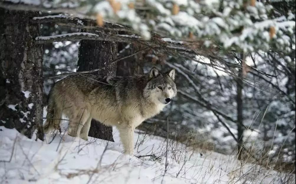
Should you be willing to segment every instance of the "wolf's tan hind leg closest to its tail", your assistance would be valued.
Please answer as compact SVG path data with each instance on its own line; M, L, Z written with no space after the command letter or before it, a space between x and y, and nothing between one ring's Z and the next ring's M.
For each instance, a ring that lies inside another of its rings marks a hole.
M69 127L70 133L69 135L72 137L79 137L80 132L86 121L88 120L90 114L86 108L78 110L76 116L70 118Z

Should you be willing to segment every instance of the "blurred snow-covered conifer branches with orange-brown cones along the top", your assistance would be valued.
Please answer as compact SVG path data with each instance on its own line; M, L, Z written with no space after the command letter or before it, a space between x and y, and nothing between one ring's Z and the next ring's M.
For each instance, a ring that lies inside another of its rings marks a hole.
M101 29L108 29L111 21L125 25L114 29L133 30L131 32L140 33L143 40L151 39L156 32L176 40L203 41L203 47L216 44L224 51L235 48L248 53L277 48L289 52L295 45L295 13L274 17L272 12L276 10L272 3L261 1L5 0L0 2L0 7L73 14L102 22L104 28ZM48 20L57 18L48 17ZM77 28L86 28L72 23Z

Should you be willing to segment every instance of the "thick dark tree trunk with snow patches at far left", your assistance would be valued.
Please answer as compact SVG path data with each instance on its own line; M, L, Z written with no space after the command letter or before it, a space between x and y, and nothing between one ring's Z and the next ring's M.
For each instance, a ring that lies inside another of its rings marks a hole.
M0 8L0 125L43 140L42 45L36 12Z

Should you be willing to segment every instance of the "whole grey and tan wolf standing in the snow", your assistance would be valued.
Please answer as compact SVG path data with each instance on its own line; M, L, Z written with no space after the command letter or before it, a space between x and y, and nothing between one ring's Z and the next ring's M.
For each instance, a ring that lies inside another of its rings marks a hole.
M87 140L91 119L116 126L125 154L133 154L134 130L160 113L177 94L175 69L152 67L144 75L111 77L70 75L49 92L44 132L59 129L62 114L69 117L69 135Z

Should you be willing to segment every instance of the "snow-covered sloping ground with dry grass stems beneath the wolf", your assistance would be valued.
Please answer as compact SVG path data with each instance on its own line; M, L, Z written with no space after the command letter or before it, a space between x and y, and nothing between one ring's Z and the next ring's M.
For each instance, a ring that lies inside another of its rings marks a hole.
M53 134L46 135L46 143L0 128L0 183L287 183L283 173L241 164L234 156L192 152L173 140L165 171L166 139L139 130L134 137L136 156L127 156L121 153L115 128L115 143L66 134L53 141Z

